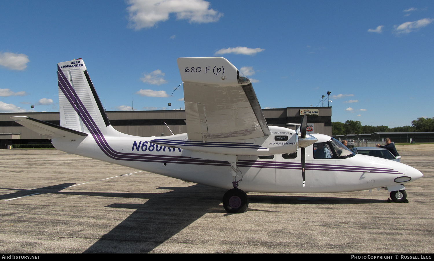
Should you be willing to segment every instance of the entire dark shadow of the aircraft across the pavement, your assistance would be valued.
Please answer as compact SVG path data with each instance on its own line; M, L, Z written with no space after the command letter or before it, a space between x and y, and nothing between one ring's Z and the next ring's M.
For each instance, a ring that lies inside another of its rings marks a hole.
M135 211L109 233L103 235L84 253L148 253L206 213L227 215L223 206L219 206L226 190L199 184L188 187L159 187L158 189L171 190L163 193L62 191L63 188L72 185L74 183L63 183L38 189L1 188L16 190L17 192L1 195L0 199L12 199L34 193L148 199L143 204L117 203L105 206L109 208L135 209ZM329 205L386 202L378 199L250 194L249 201L250 203ZM258 210L247 209L247 211Z

